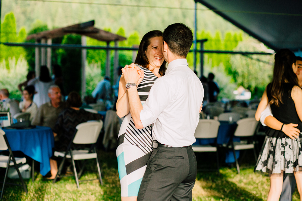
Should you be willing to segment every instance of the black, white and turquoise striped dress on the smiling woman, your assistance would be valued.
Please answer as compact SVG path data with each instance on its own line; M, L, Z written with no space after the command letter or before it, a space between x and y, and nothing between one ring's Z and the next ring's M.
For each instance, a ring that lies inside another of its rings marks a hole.
M149 69L137 65L144 71L144 78L137 86L142 104L148 98L151 86L157 77ZM136 129L130 112L125 116L117 139L117 164L122 197L137 196L152 152L152 125Z

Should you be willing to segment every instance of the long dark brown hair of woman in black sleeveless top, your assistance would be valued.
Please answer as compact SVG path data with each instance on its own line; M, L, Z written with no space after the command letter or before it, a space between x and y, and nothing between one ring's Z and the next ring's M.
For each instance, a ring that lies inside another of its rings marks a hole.
M293 72L293 63L296 63L295 54L289 49L281 49L275 54L275 65L273 80L271 82L271 96L270 104L275 104L279 107L282 103L282 83L286 81L299 86L297 75Z

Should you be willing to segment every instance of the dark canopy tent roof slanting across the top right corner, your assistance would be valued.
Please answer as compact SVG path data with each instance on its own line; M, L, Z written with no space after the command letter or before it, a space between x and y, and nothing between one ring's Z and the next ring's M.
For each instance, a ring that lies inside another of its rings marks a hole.
M302 51L302 1L195 0L250 36L278 51Z

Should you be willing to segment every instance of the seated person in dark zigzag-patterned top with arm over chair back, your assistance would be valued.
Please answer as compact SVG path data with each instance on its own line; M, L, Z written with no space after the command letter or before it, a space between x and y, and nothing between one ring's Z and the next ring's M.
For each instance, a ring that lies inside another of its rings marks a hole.
M67 98L67 107L64 109L53 128L54 136L58 137L58 141L55 141L55 151L66 151L70 140L74 136L76 126L80 123L87 122L90 120L100 120L102 115L87 112L80 109L82 106L81 96L76 92L70 92ZM81 148L74 147L73 148ZM51 177L49 179L54 179L58 172L57 162L54 159L50 159L50 172Z

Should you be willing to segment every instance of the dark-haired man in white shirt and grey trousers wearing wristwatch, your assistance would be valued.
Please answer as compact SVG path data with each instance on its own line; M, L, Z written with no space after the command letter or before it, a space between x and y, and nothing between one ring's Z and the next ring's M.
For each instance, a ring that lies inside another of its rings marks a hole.
M192 39L192 31L181 23L164 30L163 54L169 65L143 106L132 84L141 78L138 71L133 64L122 70L135 127L152 124L154 140L137 200L192 200L197 164L191 145L204 95L200 80L186 60Z

